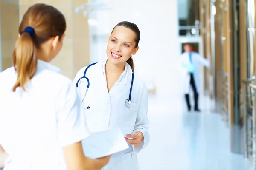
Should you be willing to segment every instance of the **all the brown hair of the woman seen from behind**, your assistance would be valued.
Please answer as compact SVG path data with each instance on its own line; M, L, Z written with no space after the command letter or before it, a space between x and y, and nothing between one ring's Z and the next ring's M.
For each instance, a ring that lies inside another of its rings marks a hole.
M25 31L28 26L31 32ZM62 35L66 30L66 20L63 14L53 6L37 3L31 6L24 14L19 27L20 38L17 40L12 54L12 62L17 72L17 81L12 90L22 87L35 75L37 71L36 50L41 44L52 37ZM25 31L25 32L24 32Z

